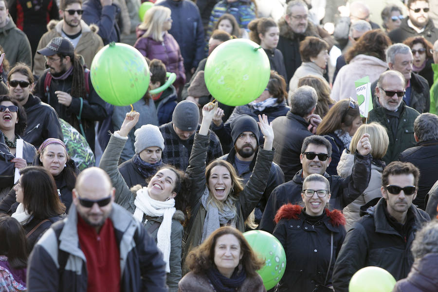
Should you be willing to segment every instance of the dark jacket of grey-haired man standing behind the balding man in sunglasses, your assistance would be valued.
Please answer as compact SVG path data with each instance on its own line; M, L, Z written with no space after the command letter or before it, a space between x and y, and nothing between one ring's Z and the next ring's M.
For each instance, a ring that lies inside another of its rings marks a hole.
M429 93L429 85L427 80L424 79L417 73L411 73L411 95L410 95L410 106L414 110L417 110L420 113L428 112L430 109L430 93ZM373 101L376 101L376 87L377 80L371 83L371 95L373 97Z

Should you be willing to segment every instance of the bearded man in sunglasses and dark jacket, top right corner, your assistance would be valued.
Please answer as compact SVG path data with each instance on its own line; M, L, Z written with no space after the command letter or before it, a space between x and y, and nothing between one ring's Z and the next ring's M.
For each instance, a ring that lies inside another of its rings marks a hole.
M417 36L434 43L438 39L438 30L429 18L429 0L408 0L406 6L409 16L402 20L399 28L388 34L392 43L401 43L408 37Z

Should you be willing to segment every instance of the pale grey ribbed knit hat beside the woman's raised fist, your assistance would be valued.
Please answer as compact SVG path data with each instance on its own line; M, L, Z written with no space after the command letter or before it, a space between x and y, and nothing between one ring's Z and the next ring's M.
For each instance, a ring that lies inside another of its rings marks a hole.
M161 134L160 128L154 125L143 125L134 132L135 136L135 153L139 154L147 147L160 147L164 150L164 138Z

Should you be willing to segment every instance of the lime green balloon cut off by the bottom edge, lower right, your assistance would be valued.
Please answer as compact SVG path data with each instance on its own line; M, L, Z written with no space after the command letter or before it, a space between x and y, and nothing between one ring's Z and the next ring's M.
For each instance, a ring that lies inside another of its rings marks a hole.
M349 292L391 292L396 280L379 267L365 267L357 271L348 285Z

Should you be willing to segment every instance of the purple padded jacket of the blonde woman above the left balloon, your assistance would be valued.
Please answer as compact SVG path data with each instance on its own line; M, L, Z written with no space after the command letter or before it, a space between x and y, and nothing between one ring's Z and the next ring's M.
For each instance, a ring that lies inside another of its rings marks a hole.
M185 70L183 56L181 55L180 46L171 34L165 32L163 41L156 41L152 37L142 37L144 30L137 28L137 41L134 47L150 60L159 59L166 65L167 72L177 74L177 79L173 84L175 87L181 87L185 84Z

